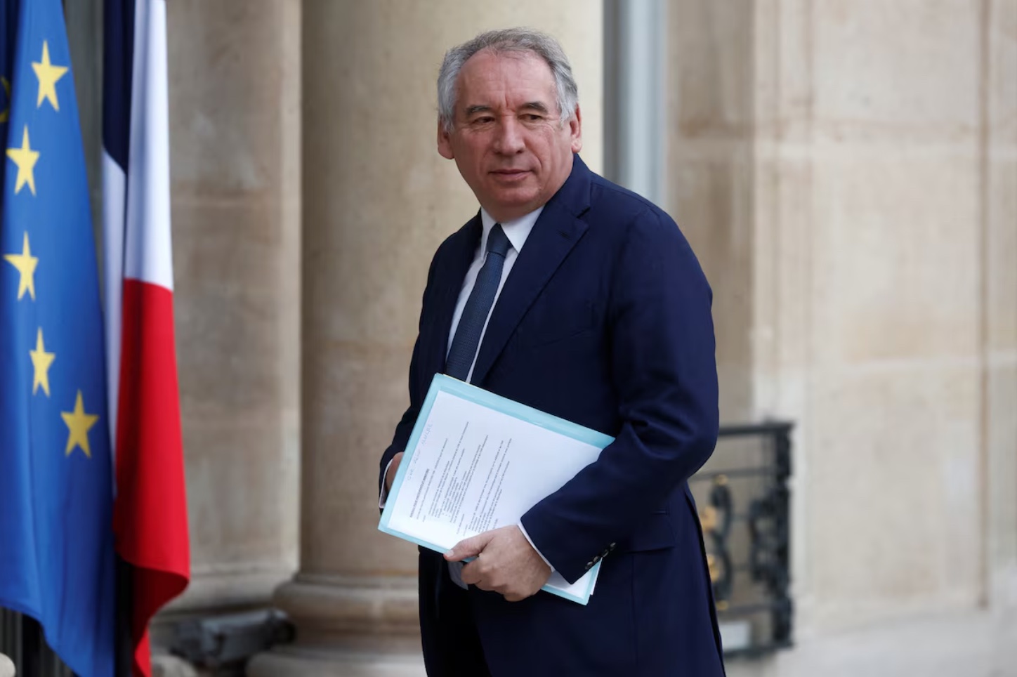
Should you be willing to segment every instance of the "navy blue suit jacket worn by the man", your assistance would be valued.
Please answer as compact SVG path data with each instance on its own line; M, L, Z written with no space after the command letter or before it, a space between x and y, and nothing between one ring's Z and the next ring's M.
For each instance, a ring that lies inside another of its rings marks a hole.
M431 262L410 367L402 451L480 241L475 217ZM717 439L711 291L674 222L575 157L495 303L473 383L615 438L523 516L567 580L603 559L588 606L471 587L492 674L723 674L703 537L686 480ZM440 557L422 551L421 557ZM433 567L430 567L433 570ZM433 595L421 578L421 595ZM432 622L422 619L422 622Z

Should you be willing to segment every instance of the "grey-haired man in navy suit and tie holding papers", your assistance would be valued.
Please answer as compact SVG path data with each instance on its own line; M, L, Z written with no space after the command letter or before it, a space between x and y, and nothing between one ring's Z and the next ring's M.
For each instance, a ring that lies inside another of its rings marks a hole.
M431 263L382 501L435 372L615 441L520 525L421 550L431 677L723 674L686 484L717 436L710 288L667 214L576 155L577 99L561 48L525 29L451 50L438 76L438 152L480 213ZM589 605L538 593L601 560Z

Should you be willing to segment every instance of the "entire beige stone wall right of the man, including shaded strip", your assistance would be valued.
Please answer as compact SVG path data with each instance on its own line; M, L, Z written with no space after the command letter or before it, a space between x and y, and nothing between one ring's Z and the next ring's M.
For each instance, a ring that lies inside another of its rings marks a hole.
M1017 3L671 9L722 412L797 425L799 636L1012 603Z

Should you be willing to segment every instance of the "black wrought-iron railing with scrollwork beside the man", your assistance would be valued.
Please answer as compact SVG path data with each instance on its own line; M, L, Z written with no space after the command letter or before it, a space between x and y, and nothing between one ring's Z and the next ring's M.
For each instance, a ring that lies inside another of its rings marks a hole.
M791 424L724 426L690 480L726 657L791 645Z

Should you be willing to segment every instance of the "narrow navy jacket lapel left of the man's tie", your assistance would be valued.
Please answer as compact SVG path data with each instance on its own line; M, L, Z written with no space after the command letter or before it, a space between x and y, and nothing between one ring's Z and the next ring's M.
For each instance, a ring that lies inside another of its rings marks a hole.
M436 294L435 308L431 315L433 321L426 327L424 367L429 386L431 376L444 371L445 354L448 352L448 328L452 326L452 316L456 312L456 302L463 289L463 279L473 262L477 246L480 244L480 234L483 226L478 212L448 242L448 251L440 260L435 261L434 287Z

